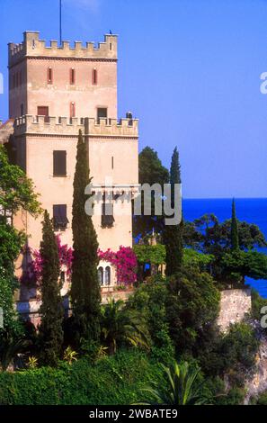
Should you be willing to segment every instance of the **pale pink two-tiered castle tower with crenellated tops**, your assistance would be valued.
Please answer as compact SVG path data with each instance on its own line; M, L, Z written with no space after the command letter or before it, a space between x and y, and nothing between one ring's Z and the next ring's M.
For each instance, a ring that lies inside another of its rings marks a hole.
M128 113L118 121L117 36L105 35L98 47L80 41L58 46L54 40L48 47L39 32L23 35L22 43L8 45L9 121L0 128L0 138L9 128L16 163L33 180L61 242L71 246L76 143L82 130L90 176L102 195L93 215L100 248L131 246L131 202L115 199L125 189L134 195L138 186L138 120ZM103 212L107 180L112 216ZM31 248L40 247L41 219L22 212L14 220ZM103 286L116 284L107 263L100 263L99 275Z

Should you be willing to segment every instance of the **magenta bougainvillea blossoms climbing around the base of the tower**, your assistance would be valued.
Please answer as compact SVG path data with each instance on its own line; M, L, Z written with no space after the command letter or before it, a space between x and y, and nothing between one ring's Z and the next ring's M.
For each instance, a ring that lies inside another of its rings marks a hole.
M62 245L61 239L57 236L58 254L60 267L65 267L67 276L71 275L73 248L68 247L67 244ZM42 269L42 259L40 250L31 249L31 263L28 265L26 275L23 275L22 281L31 282L32 280L40 284L40 275ZM106 251L98 250L98 257L100 260L107 261L115 266L118 284L134 284L137 281L137 267L138 261L136 254L131 247L120 246L116 253L107 249Z

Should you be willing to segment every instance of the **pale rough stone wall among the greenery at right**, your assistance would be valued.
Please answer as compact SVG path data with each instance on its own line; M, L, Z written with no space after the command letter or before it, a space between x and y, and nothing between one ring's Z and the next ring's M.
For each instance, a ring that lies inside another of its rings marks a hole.
M251 311L251 290L232 289L221 292L218 326L225 332L231 323L237 323Z

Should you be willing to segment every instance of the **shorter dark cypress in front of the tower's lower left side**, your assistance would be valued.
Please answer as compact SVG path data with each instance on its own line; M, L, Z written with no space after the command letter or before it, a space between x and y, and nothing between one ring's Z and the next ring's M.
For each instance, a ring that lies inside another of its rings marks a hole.
M63 343L63 306L60 296L58 245L48 211L44 212L40 242L41 306L40 363L55 366Z

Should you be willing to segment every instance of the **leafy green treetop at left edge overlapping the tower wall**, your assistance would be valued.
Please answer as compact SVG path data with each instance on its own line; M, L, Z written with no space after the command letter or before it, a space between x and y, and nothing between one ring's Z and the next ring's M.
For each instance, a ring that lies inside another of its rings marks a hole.
M20 209L33 216L40 213L38 194L34 193L33 183L20 166L9 163L4 146L0 146L0 206L12 214Z

